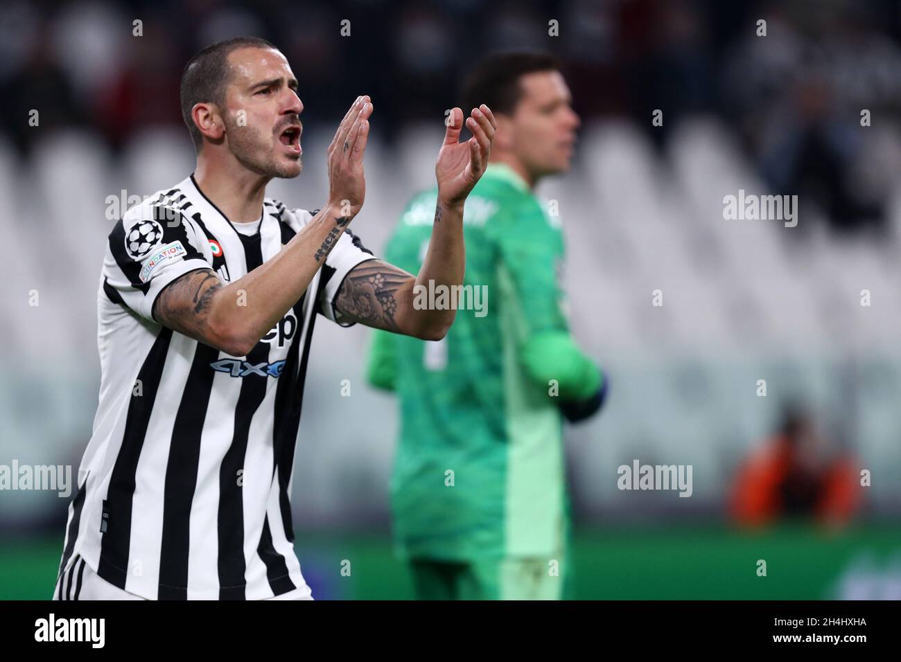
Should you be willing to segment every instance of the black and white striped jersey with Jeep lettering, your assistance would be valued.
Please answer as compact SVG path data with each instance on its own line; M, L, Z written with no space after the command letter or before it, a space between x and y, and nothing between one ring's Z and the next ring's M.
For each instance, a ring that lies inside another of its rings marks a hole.
M350 325L334 300L372 253L342 233L305 295L244 357L151 312L177 277L212 268L233 282L313 216L267 198L259 230L245 234L192 176L115 224L97 302L99 405L60 573L80 557L150 599L260 599L304 585L288 495L315 313Z

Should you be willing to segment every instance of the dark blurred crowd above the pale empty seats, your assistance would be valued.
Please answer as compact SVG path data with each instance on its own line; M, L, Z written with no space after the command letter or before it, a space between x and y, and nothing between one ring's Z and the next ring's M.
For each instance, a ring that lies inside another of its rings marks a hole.
M630 117L662 148L681 117L717 113L774 191L800 193L842 230L882 227L901 165L895 0L5 2L3 131L27 154L39 109L42 128L85 127L121 150L138 128L180 123L184 63L239 34L286 53L305 122L331 123L366 93L388 140L443 113L485 51L553 50L584 118ZM883 140L860 131L862 109Z

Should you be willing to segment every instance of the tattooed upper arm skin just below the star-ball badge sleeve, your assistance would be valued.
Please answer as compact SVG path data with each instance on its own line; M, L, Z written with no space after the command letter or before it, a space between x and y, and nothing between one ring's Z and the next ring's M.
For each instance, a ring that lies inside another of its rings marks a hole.
M177 277L153 303L153 317L173 331L196 338L206 323L206 313L222 281L212 271L199 269Z

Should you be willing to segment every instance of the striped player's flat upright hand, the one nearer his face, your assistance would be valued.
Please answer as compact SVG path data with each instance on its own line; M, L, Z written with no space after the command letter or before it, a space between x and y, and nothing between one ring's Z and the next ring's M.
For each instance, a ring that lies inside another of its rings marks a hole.
M355 216L366 197L363 176L363 151L369 139L369 115L372 104L368 95L358 96L344 115L329 145L329 204L343 215Z

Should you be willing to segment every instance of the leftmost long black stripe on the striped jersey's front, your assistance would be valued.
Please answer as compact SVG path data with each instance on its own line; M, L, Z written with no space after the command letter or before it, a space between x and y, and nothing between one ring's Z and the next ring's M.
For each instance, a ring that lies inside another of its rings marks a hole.
M144 358L137 378L141 380L143 394L132 394L125 418L122 446L115 458L113 473L104 502L103 522L105 530L100 540L100 561L97 575L119 588L125 588L128 576L129 544L132 536L132 499L138 459L144 446L150 413L157 397L159 379L166 364L172 330L162 327L153 347Z

